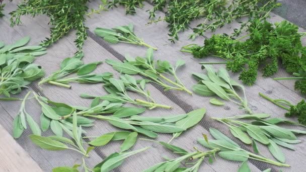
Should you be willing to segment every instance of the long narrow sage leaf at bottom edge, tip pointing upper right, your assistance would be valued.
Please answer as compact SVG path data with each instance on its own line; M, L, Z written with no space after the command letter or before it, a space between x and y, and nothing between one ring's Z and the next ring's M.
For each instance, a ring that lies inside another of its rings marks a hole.
M125 153L121 153L118 156L112 157L110 159L108 159L107 161L105 161L102 166L101 166L101 171L103 172L108 172L116 167L118 167L119 165L121 165L121 163L129 156L132 156L136 153L142 152L144 150L148 149L148 147L142 148L142 149L138 149L135 151L130 151L130 152L125 152Z

